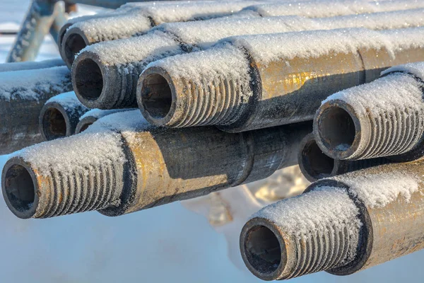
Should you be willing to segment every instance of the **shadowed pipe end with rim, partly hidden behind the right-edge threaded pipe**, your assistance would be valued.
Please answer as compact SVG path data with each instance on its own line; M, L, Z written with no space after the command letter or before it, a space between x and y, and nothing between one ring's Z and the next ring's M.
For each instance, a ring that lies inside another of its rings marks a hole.
M300 142L298 163L305 178L310 182L334 175L335 162L326 156L314 139L314 134L308 134Z

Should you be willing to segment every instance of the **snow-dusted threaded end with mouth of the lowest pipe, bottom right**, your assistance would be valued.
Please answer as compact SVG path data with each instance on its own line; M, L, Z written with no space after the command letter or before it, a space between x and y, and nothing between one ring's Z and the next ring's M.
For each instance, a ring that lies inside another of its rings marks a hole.
M338 209L335 204L340 205ZM334 208L336 211L331 211ZM336 188L271 204L243 227L242 258L247 268L264 280L290 279L348 265L358 249L358 213L346 190Z

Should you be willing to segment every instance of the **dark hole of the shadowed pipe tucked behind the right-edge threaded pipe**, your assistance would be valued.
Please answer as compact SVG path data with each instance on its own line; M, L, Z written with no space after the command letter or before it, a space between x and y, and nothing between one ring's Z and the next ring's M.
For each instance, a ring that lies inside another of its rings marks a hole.
M334 159L326 156L312 139L302 149L302 166L315 179L326 178L334 169Z

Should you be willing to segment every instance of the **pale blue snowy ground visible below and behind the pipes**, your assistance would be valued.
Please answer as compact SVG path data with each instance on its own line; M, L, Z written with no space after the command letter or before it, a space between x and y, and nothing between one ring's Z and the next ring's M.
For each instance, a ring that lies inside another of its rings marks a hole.
M18 28L28 6L0 0L0 30ZM0 35L0 62L12 42ZM37 59L58 56L46 38ZM20 220L0 197L0 227L0 282L259 282L232 264L224 236L204 216L179 203L117 218L88 212ZM423 282L423 260L420 251L349 277L319 272L293 282Z

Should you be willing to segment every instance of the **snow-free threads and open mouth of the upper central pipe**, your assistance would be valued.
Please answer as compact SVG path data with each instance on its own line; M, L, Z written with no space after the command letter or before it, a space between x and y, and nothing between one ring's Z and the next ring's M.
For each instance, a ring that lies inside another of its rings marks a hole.
M241 85L225 76L193 81L151 67L140 76L137 100L143 116L156 126L230 125L247 108Z

